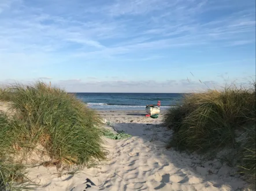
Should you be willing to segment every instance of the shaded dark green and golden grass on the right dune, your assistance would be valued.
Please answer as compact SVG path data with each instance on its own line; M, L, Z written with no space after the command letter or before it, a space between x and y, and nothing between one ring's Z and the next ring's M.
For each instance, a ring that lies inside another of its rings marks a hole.
M255 101L255 83L185 95L181 105L170 108L164 117L175 132L170 146L206 152L234 148L239 165L255 178ZM245 135L240 142L238 132Z

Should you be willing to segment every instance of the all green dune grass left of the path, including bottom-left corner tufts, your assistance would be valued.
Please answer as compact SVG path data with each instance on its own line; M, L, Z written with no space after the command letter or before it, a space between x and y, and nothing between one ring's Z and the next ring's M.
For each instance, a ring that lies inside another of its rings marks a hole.
M51 165L90 167L105 159L98 128L101 119L73 94L37 82L1 89L0 100L10 102L14 110L11 116L0 114L1 186L24 184L23 166L9 160L10 156L26 155L38 146Z

